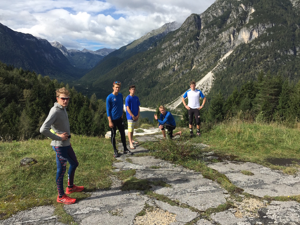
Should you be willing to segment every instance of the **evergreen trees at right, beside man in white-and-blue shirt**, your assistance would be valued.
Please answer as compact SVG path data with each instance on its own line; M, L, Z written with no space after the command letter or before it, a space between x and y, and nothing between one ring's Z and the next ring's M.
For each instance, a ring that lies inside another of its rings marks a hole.
M215 124L235 116L267 123L299 121L300 81L290 82L278 74L261 70L255 81L246 81L241 88L236 86L228 98L224 96L220 90L209 94L203 121Z

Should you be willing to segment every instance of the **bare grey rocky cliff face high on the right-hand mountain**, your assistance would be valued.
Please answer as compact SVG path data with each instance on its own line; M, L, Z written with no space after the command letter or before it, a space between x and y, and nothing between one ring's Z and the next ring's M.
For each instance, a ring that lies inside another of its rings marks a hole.
M157 68L173 65L172 71L184 68L183 74L195 68L203 71L236 46L250 43L274 26L271 22L248 25L255 12L253 6L232 2L235 4L216 1L201 15L189 16L173 38L162 44L159 56L163 61ZM177 46L180 46L177 51L171 50ZM217 56L208 61L212 52ZM187 57L192 58L190 67L184 64Z

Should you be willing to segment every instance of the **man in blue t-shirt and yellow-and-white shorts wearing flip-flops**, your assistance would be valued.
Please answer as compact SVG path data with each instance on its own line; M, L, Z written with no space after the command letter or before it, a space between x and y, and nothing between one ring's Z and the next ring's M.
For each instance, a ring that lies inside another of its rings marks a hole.
M133 131L139 127L139 117L140 117L140 101L139 97L135 95L135 85L129 87L130 94L125 99L126 107L126 118L128 124L128 139L129 139L129 148L135 149L133 144L138 144L137 141L134 141Z

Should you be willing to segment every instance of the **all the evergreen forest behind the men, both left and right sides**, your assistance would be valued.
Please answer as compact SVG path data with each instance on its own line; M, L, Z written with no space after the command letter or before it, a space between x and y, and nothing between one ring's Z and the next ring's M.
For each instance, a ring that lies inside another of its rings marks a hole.
M90 98L70 88L68 84L51 80L48 76L24 71L0 63L0 138L1 140L28 140L43 138L39 128L56 101L55 90L70 90L67 113L72 134L103 136L110 130L106 114L106 102ZM298 122L300 117L300 82L293 83L282 76L256 74L256 81L244 82L235 87L228 98L221 91L207 95L205 110L200 110L202 129L226 119L244 115L244 120L259 122ZM178 127L188 126L187 110L182 109L183 120ZM123 117L125 125L126 116ZM147 118L142 122L153 124ZM156 126L156 124L153 124Z

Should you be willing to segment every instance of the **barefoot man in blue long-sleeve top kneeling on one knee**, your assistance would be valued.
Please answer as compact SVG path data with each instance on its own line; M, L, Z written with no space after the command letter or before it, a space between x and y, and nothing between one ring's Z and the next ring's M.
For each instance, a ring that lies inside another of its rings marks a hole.
M161 115L158 119L157 115L154 114L154 118L158 121L159 125L158 128L161 129L161 132L163 133L164 138L166 138L166 131L168 130L168 135L170 139L175 137L176 135L181 136L181 131L173 134L173 130L176 128L176 122L172 114L168 111L166 111L166 108L164 106L159 107L159 111L161 112Z

